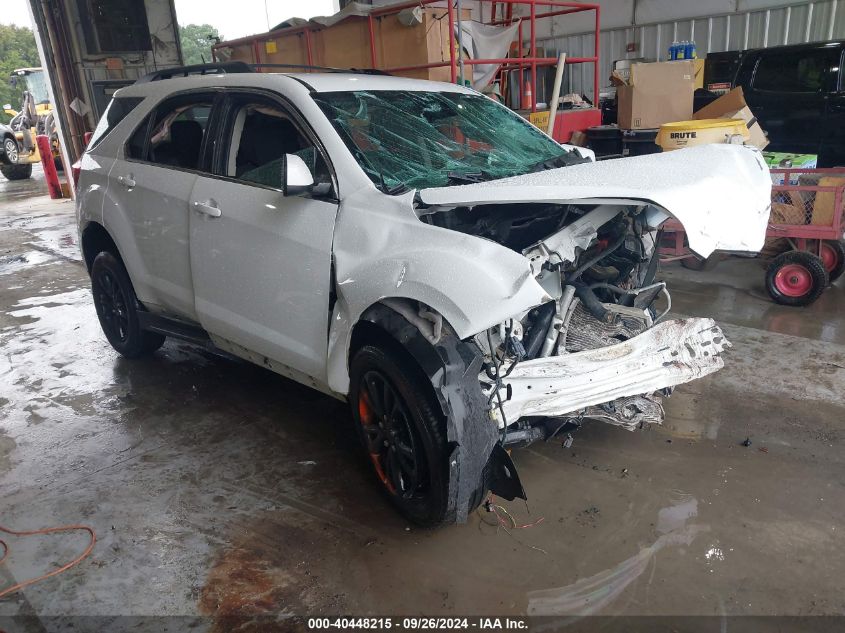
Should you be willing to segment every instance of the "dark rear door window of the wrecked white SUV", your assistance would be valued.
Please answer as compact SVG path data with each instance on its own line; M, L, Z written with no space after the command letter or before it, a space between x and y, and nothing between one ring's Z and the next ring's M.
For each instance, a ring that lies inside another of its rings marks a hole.
M180 169L200 169L214 95L179 97L159 105L126 145L128 158Z

